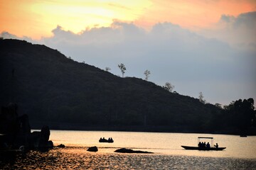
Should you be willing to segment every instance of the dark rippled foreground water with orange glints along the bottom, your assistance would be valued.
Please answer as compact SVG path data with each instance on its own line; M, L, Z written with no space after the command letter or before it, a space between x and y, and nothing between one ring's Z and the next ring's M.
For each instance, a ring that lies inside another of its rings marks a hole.
M10 161L12 160L12 161ZM0 169L256 169L255 159L193 157L166 154L87 152L83 147L29 151L9 159Z

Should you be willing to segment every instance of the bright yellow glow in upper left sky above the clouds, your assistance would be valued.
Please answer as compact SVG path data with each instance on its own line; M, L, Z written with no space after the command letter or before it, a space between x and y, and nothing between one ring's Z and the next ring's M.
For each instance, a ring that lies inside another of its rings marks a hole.
M118 2L118 3L117 3ZM150 6L143 1L1 1L0 32L33 38L50 36L57 25L79 33L93 26L110 26L113 19L134 21Z

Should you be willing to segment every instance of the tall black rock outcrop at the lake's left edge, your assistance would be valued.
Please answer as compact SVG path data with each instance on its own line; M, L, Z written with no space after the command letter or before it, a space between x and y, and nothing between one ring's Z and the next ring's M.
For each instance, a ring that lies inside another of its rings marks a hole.
M49 141L50 129L43 126L41 132L32 132L28 115L18 116L18 106L10 103L1 107L0 113L0 148L18 149L24 146L28 149L52 148Z

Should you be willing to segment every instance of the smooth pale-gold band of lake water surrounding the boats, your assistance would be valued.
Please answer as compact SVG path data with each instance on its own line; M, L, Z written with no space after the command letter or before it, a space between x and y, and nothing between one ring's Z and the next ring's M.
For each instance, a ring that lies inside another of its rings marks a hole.
M181 145L197 146L198 136L214 137L214 143L218 142L220 147L227 147L227 149L222 152L202 152L189 151L181 147ZM112 137L114 143L100 143L98 142L100 137ZM126 147L156 154L256 159L256 136L243 138L235 135L194 133L51 130L50 138L55 145L61 143L75 147L92 147L96 145L104 148L100 149L100 152L105 153L112 153L115 149Z

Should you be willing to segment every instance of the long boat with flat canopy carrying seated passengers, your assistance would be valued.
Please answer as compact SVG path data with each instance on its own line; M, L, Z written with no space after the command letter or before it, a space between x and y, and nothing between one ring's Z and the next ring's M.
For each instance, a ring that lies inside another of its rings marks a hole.
M199 142L201 142L201 139L210 139L211 140L211 145L212 147L206 147L206 146L197 146L197 147L190 147L190 146L181 146L183 147L184 149L188 149L188 150L216 150L216 151L219 151L219 150L223 150L223 149L226 149L226 147L218 147L218 145L213 145L213 137L198 137L198 144ZM214 146L214 147L213 147Z

